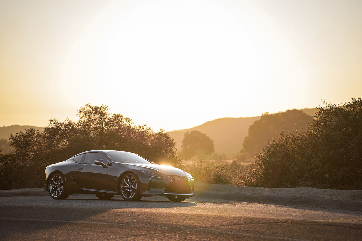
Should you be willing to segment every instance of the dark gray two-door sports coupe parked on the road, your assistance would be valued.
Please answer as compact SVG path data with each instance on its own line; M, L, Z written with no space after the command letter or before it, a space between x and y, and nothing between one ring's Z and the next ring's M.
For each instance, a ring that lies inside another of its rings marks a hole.
M126 151L85 151L47 166L45 176L44 188L54 199L94 193L104 200L114 195L127 201L163 195L182 202L194 195L194 178L189 173Z

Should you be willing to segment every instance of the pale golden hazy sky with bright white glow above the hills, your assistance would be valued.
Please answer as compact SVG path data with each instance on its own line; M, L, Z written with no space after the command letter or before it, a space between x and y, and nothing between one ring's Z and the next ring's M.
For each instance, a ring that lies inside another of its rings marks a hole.
M154 130L362 97L362 1L0 0L0 125Z

